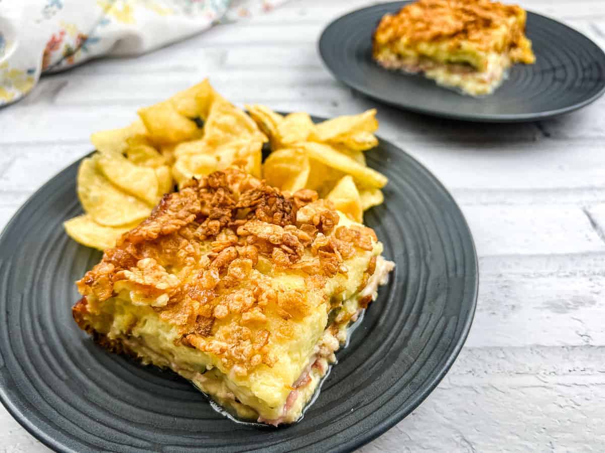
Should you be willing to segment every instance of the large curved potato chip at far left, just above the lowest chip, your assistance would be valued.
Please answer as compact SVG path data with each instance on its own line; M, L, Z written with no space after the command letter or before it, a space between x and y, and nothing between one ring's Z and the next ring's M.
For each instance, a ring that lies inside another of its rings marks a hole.
M151 213L149 205L111 184L97 169L99 156L84 159L78 169L77 194L84 210L95 222L106 226L145 219Z

